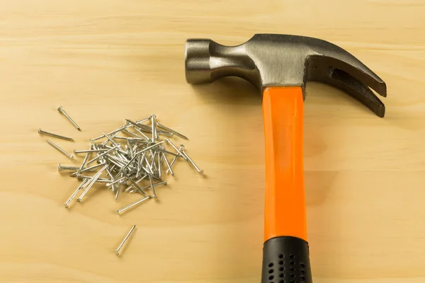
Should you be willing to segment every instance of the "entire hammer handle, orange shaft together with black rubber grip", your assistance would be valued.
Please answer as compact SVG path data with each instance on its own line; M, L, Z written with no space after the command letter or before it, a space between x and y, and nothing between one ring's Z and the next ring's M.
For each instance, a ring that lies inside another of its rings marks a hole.
M312 283L307 243L300 86L263 91L266 205L261 283Z

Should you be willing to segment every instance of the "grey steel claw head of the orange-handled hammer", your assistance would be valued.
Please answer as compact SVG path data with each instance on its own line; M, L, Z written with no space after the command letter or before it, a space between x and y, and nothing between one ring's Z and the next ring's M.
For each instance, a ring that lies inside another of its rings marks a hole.
M387 96L385 82L352 54L325 40L297 35L257 34L242 45L224 46L209 39L189 39L185 49L186 81L210 83L239 76L262 93L267 86L301 86L319 81L340 88L379 117Z

